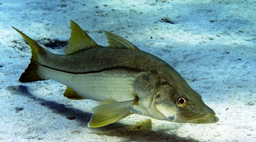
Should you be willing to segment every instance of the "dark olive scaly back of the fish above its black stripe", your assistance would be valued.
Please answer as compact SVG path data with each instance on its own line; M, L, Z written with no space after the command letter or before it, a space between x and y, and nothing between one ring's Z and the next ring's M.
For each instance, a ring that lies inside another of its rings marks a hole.
M112 68L155 71L160 68L159 66L164 66L160 64L159 58L153 60L146 52L127 49L96 47L78 51L72 55L72 58L70 55L45 54L38 60L40 65L70 73L99 72Z

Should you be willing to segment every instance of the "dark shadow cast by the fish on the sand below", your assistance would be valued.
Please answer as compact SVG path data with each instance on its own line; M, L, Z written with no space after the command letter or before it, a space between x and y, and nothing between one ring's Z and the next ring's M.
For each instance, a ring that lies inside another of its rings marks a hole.
M46 108L52 110L53 113L61 114L70 120L76 120L81 123L81 126L87 126L86 122L90 121L91 113L84 112L78 108L67 107L65 104L59 104L55 101L47 101L46 99L33 96L29 93L26 86L8 86L13 94L19 94L27 98L34 99L35 102L40 102ZM89 128L94 131L88 132L97 135L107 135L109 137L120 137L124 141L197 141L192 138L179 137L176 134L170 134L168 131L174 129L152 129L151 119L146 119L143 122L138 122L131 125L124 125L123 123L113 123L111 125L103 126L102 128Z

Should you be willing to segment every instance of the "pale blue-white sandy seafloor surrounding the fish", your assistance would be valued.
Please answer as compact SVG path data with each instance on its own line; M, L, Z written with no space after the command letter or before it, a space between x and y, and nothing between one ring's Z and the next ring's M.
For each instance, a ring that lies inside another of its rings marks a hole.
M0 1L0 141L256 141L255 1ZM120 35L175 68L218 123L132 114L88 128L97 102L74 101L53 81L20 83L31 50L11 26L62 54L70 20L98 44Z

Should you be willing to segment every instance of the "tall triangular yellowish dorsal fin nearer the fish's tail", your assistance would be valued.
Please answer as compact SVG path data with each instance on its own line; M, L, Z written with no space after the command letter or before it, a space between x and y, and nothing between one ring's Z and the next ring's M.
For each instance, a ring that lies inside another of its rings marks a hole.
M92 47L98 46L98 44L95 43L93 39L91 39L89 35L87 35L77 23L71 20L70 26L71 37L69 38L69 44L67 44L65 49L66 55L78 52L82 49L90 49Z

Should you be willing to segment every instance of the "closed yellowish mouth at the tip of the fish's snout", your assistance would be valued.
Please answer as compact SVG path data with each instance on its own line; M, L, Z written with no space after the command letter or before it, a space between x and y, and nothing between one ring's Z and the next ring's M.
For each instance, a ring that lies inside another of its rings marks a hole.
M186 123L207 124L207 123L216 123L218 121L219 121L219 118L216 117L215 114L211 114L210 116L187 120Z

